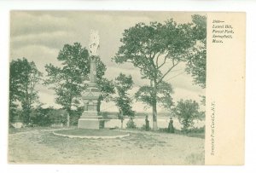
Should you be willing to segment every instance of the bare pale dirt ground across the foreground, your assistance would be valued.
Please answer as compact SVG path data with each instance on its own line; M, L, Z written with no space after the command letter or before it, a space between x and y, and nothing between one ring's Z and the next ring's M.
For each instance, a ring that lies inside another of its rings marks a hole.
M204 140L153 132L71 139L52 130L9 134L10 164L204 164Z

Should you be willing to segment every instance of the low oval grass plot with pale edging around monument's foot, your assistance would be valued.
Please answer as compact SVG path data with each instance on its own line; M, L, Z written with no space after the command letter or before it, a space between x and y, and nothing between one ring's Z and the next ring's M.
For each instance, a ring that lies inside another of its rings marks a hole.
M125 136L127 133L117 130L85 130L85 129L74 129L74 130L56 130L55 133L66 136Z

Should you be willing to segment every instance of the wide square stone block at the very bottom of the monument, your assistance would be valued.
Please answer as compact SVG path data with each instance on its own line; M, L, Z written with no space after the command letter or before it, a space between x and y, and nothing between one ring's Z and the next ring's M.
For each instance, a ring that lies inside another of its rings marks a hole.
M79 118L79 129L99 130L104 128L102 118Z

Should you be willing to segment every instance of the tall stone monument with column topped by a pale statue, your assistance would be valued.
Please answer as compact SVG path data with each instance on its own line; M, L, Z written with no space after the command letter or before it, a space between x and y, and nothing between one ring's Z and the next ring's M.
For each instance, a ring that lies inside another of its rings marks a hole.
M79 118L78 128L99 130L104 127L102 116L98 112L99 97L101 90L96 86L96 57L100 48L100 38L97 31L90 32L90 83L84 90L82 99L84 101L84 112Z

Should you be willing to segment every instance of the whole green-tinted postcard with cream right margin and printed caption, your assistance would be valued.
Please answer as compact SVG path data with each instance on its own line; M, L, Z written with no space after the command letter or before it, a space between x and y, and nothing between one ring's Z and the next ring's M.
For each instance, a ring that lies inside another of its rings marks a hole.
M11 11L9 164L244 164L245 22Z

